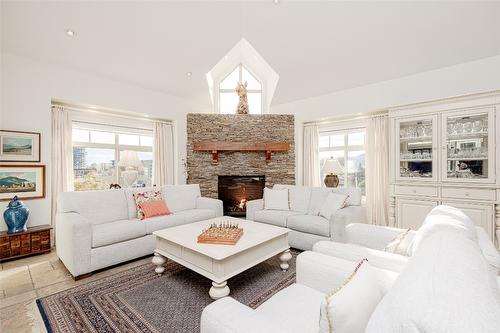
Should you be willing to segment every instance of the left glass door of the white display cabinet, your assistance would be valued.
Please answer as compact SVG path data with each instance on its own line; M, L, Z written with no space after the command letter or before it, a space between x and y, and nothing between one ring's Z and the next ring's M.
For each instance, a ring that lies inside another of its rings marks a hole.
M399 135L399 177L409 180L433 180L434 137L436 117L400 120L397 122Z

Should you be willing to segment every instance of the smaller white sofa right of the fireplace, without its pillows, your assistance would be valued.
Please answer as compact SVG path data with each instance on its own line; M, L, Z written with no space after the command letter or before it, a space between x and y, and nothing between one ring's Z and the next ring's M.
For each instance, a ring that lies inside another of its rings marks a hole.
M361 191L357 188L324 188L276 184L274 189L287 188L290 191L290 210L264 209L263 199L247 203L247 220L273 224L290 229L288 239L291 247L311 250L322 240L341 241L345 226L350 223L366 223L366 209L361 205ZM339 209L332 217L311 214L314 206L321 205L321 198L335 191L349 195L347 206Z

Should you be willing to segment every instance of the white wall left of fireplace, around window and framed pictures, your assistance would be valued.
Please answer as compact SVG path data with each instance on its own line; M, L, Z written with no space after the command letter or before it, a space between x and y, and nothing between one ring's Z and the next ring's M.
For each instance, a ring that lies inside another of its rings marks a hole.
M25 201L31 210L29 226L50 223L52 99L99 105L173 120L178 129L180 155L177 180L179 183L185 182L181 159L186 156L186 113L203 112L203 107L165 93L12 54L1 54L0 72L0 128L41 132L42 137L41 164L47 165L46 198ZM1 202L0 205L0 214L3 214L6 202ZM0 223L0 230L5 229L5 223Z

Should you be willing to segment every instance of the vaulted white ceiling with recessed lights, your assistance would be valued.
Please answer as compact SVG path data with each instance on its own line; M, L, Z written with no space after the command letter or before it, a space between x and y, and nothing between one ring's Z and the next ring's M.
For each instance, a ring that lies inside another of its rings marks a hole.
M2 1L1 6L4 52L204 105L210 105L206 73L241 38L280 76L272 104L500 54L500 2ZM68 37L66 29L76 36Z

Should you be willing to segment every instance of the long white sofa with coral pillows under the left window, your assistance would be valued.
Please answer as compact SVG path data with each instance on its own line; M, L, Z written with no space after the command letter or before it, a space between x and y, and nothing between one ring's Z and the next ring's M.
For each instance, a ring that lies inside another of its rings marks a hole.
M168 216L140 221L134 191L161 189ZM199 185L65 192L56 215L56 251L74 277L152 254L153 231L222 216L220 200L203 198Z

